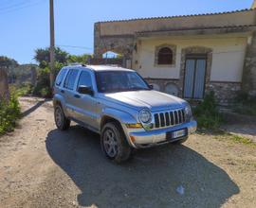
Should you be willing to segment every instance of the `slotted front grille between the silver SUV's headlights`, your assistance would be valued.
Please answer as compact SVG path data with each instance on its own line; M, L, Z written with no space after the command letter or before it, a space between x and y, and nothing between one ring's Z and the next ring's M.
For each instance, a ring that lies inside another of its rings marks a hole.
M155 128L165 128L175 126L185 122L184 110L175 110L172 112L155 113Z

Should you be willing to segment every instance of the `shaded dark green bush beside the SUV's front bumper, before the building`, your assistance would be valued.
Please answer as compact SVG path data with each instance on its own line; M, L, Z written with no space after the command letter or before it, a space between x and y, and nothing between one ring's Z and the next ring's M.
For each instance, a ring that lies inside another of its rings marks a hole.
M205 95L204 100L193 109L199 129L216 130L222 122L222 116L217 109L214 92Z

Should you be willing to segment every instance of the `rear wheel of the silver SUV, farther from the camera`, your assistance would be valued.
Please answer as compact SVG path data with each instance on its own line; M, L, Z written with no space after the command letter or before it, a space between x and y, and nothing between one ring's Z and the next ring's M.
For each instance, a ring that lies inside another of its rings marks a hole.
M54 108L54 120L59 130L67 130L70 127L70 120L65 117L64 110L60 105Z

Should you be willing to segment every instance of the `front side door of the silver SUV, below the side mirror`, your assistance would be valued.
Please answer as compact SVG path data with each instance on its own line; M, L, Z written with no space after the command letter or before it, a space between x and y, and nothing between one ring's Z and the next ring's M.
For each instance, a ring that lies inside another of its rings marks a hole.
M77 92L76 92L76 106L78 111L78 119L82 121L86 126L98 130L97 126L97 113L96 113L96 105L97 100L93 95L82 95L78 93L78 88L81 85L91 87L92 90L95 91L93 87L92 74L89 71L82 70L78 79L77 84Z

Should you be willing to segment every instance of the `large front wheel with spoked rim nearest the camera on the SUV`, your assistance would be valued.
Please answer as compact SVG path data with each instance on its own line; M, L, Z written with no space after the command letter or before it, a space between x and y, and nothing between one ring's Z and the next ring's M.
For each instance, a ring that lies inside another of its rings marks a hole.
M110 122L103 126L101 150L108 159L118 164L129 160L131 157L132 147L129 146L118 122Z

